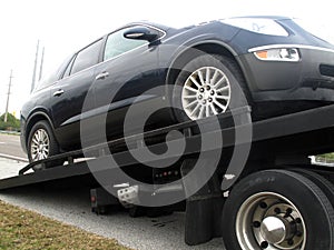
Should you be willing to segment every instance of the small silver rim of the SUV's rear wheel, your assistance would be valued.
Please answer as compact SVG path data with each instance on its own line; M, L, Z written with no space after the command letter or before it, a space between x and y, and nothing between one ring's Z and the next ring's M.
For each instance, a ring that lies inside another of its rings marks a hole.
M47 159L50 149L50 140L48 132L43 129L36 130L31 138L30 148L32 161Z

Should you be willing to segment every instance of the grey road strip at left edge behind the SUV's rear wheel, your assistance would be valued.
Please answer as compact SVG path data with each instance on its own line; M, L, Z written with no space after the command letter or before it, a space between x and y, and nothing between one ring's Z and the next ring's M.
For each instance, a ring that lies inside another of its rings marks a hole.
M0 157L27 161L19 136L0 133Z

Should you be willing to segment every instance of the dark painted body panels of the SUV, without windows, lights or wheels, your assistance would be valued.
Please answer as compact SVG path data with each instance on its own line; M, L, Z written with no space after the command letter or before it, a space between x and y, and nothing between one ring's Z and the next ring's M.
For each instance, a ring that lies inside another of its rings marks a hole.
M271 44L301 44L334 50L332 44L304 31L291 19L278 17L273 19L285 27L289 33L288 37L254 33L224 24L220 21L179 30L154 23L131 23L126 27L138 24L154 27L161 30L164 36L153 43L147 43L129 53L102 62L101 53L107 38L105 36L98 64L69 78L59 79L51 87L37 89L30 101L24 104L21 111L23 149L27 147L27 138L31 128L29 121L33 121L33 117L37 114L43 116L50 121L56 138L61 148L66 150L80 147L80 118L90 119L95 116L102 116L102 111L106 109L101 107L107 107L110 112L107 119L110 136L120 134L125 112L134 103L136 97L154 87L173 83L174 79L169 78L169 69L179 67L176 63L178 59L184 57L189 48L202 49L203 44L208 43L222 48L235 58L255 102L294 99L334 101L333 90L326 92L327 89L323 88L303 88L303 82L307 79L333 83L333 78L321 76L317 67L322 61L330 61L334 64L334 53L299 49L303 59L301 62L282 63L261 61L249 52L252 48ZM69 62L70 60L65 63L58 74L63 73ZM95 80L99 73L104 72L109 73L106 79ZM112 104L109 106L111 93L120 86ZM330 84L330 87L332 86ZM65 90L65 93L53 97L53 92L57 90ZM87 96L88 92L90 94ZM145 100L153 103L153 100L168 102L169 98L166 96L168 93L157 92L156 96L147 96L147 99L144 97L140 102ZM90 103L90 109L82 113L85 101ZM161 124L166 124L168 121L173 122L173 113L164 112L153 122L159 121Z

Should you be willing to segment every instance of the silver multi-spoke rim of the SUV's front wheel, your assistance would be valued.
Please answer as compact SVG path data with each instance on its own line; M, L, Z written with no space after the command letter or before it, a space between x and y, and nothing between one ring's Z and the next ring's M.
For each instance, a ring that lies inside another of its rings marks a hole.
M215 67L194 71L183 87L181 103L191 120L224 113L230 101L230 83Z

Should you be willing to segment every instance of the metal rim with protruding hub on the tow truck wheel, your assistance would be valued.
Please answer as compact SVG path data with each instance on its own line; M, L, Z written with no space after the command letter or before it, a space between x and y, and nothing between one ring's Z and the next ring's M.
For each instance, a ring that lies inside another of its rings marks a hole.
M262 192L248 198L236 218L236 234L243 250L304 250L304 219L285 197Z

